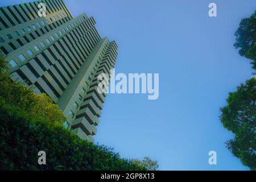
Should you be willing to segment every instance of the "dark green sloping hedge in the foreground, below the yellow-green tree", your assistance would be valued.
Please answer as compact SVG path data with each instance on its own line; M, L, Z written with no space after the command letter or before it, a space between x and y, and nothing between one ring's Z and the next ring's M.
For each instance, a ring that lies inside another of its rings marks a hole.
M68 130L0 100L0 170L142 170L112 148L81 140ZM38 152L46 151L46 165Z

